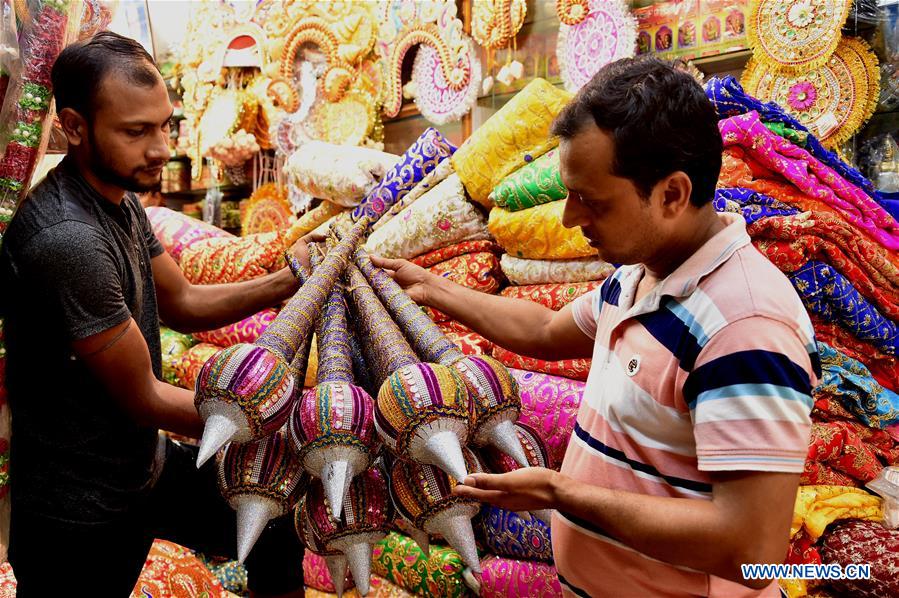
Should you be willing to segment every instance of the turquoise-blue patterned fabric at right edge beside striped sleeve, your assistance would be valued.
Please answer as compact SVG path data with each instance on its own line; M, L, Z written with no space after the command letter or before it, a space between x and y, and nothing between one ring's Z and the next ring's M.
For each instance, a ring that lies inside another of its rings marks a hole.
M899 423L899 394L878 384L863 363L818 343L823 374L815 398L834 397L871 428Z

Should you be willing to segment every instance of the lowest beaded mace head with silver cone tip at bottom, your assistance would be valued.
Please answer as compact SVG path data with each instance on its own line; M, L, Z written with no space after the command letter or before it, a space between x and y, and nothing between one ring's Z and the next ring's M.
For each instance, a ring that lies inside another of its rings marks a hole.
M372 545L387 535L387 523L392 519L387 492L387 476L376 465L353 479L342 511L335 513L331 510L324 487L315 480L309 487L302 508L295 513L298 530L300 525L307 527L300 533L301 538L318 539L318 550L323 546L326 551L336 550L343 556L343 562L339 555L338 558L325 556L335 585L341 573L346 574L345 564L348 564L356 588L363 596L369 590ZM318 552L312 545L307 546Z

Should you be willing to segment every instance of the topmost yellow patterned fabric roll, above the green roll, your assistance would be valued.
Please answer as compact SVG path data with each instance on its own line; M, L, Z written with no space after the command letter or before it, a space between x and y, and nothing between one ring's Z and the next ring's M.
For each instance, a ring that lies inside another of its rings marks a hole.
M534 79L475 130L452 157L472 199L489 207L488 196L500 181L558 145L549 129L572 97Z

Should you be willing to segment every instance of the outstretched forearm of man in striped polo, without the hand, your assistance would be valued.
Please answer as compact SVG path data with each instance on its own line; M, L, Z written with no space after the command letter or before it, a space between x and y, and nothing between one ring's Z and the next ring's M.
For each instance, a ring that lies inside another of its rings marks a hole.
M428 281L427 303L510 351L531 357L558 359L558 347L542 336L555 312L538 303L488 295L443 277Z

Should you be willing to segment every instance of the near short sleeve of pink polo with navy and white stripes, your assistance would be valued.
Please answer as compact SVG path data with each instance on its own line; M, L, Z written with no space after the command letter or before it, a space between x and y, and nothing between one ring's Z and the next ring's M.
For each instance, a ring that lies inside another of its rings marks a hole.
M814 358L794 328L764 316L717 332L683 386L699 469L802 472Z

